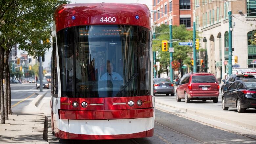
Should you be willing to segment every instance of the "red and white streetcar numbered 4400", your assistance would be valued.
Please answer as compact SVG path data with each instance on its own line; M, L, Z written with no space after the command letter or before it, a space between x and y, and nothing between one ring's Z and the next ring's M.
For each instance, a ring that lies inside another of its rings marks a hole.
M52 133L61 139L151 137L150 10L143 4L59 6L52 28Z

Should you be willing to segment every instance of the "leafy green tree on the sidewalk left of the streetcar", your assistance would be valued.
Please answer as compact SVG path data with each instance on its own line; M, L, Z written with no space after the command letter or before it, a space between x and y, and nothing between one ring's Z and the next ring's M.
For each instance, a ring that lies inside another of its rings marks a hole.
M14 44L19 44L19 49L27 51L35 57L42 55L51 47L50 42L42 43L50 39L50 27L53 20L53 13L60 4L66 4L67 0L10 0L1 1L0 6L0 80L3 78L4 53L9 55ZM3 52L2 52L3 51ZM5 66L9 67L9 66ZM5 74L8 79L8 73ZM9 74L10 75L10 74ZM10 77L7 80L10 83ZM8 85L8 82L6 84ZM4 123L4 96L1 90L1 114L0 123ZM11 95L5 94L11 101ZM10 107L11 108L11 107ZM10 111L10 109L9 109ZM10 114L10 112L9 112Z

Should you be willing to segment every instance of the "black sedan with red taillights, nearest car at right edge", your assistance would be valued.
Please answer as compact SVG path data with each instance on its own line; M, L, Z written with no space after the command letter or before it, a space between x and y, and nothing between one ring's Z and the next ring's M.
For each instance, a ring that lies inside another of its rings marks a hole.
M247 108L256 108L256 80L238 80L228 88L224 87L222 95L222 109L237 108L238 113L243 113Z

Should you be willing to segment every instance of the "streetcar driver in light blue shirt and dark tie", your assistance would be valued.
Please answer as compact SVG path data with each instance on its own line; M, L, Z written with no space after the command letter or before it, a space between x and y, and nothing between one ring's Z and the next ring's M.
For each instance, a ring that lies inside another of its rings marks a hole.
M117 72L113 72L113 64L108 60L107 61L107 72L103 74L100 80L123 80L122 76Z

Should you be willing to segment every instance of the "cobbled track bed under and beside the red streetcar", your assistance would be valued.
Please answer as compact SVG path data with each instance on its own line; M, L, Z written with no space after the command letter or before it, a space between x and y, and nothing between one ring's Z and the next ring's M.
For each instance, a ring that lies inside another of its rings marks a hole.
M160 98L160 97L158 97ZM170 98L170 97L167 97ZM173 98L173 97L171 97ZM124 139L124 140L59 140L51 134L50 120L50 95L43 99L40 106L41 111L48 117L48 142L49 143L140 143L140 144L236 144L236 143L256 143L255 140L238 134L223 131L211 126L188 120L174 114L156 110L154 136L149 138Z

